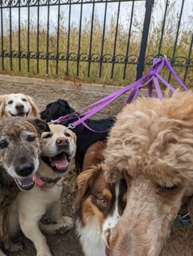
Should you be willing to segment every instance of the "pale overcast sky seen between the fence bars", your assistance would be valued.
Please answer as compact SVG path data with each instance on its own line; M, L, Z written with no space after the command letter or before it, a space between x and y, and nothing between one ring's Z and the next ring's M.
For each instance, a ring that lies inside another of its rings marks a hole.
M155 0L154 9L153 9L153 17L154 21L157 24L160 24L164 16L164 2L165 0ZM170 0L169 1L172 6L172 17L176 19L176 16L179 15L180 7L182 4L182 0ZM120 17L119 17L119 24L128 26L129 23L129 14L131 12L132 2L121 2L121 9L120 9ZM89 20L92 14L93 4L83 4L83 22L85 20ZM98 15L98 20L103 21L104 17L104 10L105 10L105 3L98 2L95 4L95 15ZM3 9L3 20L9 18L10 10ZM118 2L109 2L107 8L107 15L106 20L107 22L110 21L112 15L116 17L116 13L118 11ZM170 8L171 11L171 8ZM49 10L49 21L52 27L57 24L57 14L58 14L58 7L51 6ZM64 22L68 24L68 15L69 15L69 6L60 6L60 14L64 15ZM79 24L79 14L80 14L80 5L71 5L71 23L75 22ZM145 14L145 1L136 1L134 3L134 15L137 21L142 22ZM18 9L12 9L12 22L13 26L17 27L18 22ZM36 25L37 19L37 7L31 7L29 12L30 19L33 20L33 25ZM28 10L27 8L21 8L21 21L26 21L28 17ZM41 6L41 25L47 24L48 18L48 8ZM174 20L174 22L176 22ZM1 22L1 20L0 20ZM183 6L183 15L182 15L182 22L184 29L192 29L193 26L193 1L192 0L184 0ZM7 24L8 25L8 24ZM4 26L6 26L6 22L4 22Z

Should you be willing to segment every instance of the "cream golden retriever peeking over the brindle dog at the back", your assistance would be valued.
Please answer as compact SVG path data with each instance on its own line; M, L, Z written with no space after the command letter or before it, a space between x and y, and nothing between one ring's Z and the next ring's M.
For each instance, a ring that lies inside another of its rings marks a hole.
M38 118L39 110L33 98L23 93L0 95L0 118L13 116Z

